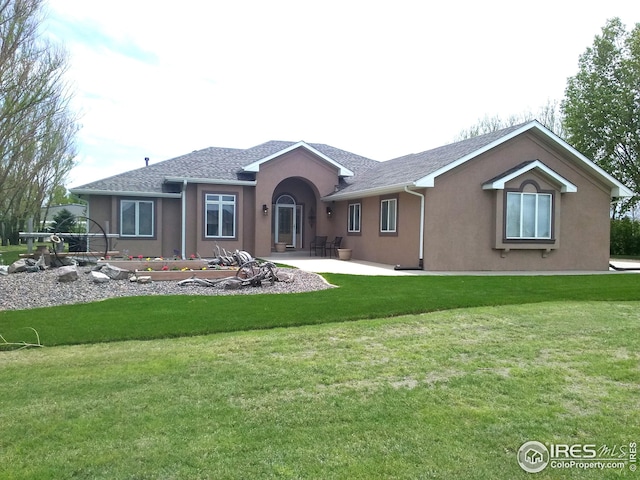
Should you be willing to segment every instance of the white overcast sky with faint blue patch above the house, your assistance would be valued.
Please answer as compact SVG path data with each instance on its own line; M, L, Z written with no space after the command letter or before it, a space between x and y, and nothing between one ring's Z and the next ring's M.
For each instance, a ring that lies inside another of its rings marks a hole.
M561 100L634 0L49 0L82 126L69 187L209 146L387 160Z

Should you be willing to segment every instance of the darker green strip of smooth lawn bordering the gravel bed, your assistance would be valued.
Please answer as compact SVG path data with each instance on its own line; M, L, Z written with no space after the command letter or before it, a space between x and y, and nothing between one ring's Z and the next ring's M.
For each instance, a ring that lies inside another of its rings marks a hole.
M324 276L339 288L287 295L140 296L1 311L0 334L9 342L33 342L33 328L44 345L53 346L345 322L476 306L640 301L638 274Z

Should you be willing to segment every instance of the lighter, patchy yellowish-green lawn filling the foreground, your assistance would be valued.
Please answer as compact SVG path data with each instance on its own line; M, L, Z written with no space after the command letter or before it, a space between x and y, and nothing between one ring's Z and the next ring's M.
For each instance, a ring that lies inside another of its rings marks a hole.
M0 478L531 478L516 461L525 441L638 441L639 307L491 306L3 352Z

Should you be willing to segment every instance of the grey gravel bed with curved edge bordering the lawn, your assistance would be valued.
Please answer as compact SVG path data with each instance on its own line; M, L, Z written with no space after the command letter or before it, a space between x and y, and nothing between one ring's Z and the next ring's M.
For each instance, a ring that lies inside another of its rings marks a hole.
M266 283L262 287L242 287L237 290L226 290L221 286L181 286L177 281L139 284L128 280L111 280L98 284L89 278L90 270L78 267L78 280L70 283L58 282L55 269L0 275L0 311L90 303L107 298L140 295L286 294L332 288L320 275L288 268L279 271L286 272L292 278L291 282L276 282L273 286Z

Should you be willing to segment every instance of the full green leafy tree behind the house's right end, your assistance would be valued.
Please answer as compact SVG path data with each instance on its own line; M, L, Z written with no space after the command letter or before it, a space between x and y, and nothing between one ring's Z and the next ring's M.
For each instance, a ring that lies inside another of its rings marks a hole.
M640 192L640 23L628 33L619 18L608 20L578 67L561 105L567 140ZM617 213L639 200L633 197Z

